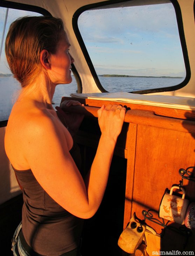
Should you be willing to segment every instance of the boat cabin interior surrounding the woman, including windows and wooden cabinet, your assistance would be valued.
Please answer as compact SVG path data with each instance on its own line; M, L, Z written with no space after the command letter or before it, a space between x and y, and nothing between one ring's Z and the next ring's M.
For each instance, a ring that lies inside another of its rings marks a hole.
M26 15L52 15L64 22L75 60L75 87L59 85L54 104L68 99L84 104L82 109L64 109L85 115L75 136L83 171L89 170L100 137L98 108L110 103L126 106L102 204L85 221L82 255L129 255L118 241L128 227L127 247L132 243L132 216L146 227L141 240L146 241L149 256L194 255L195 1L0 0L0 13L2 255L13 255L11 239L23 204L4 149L17 94L8 87L15 82L6 69L4 43L9 24Z

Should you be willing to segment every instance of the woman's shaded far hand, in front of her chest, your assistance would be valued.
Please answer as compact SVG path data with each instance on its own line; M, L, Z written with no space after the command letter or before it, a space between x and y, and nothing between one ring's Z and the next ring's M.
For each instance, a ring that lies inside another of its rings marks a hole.
M63 125L67 127L72 136L77 133L79 126L83 121L84 115L64 112L63 108L78 105L84 106L77 100L64 100L61 104L61 107L56 107L58 118L61 120Z

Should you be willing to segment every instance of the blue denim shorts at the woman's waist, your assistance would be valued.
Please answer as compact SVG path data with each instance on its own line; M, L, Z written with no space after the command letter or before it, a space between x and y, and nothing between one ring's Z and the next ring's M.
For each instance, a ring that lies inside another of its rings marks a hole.
M18 225L16 228L16 231L14 233L14 236L12 238L12 251L14 256L32 256L30 255L25 248L23 247L20 237L19 237L19 232L22 228L22 222ZM60 256L82 256L79 252L79 250L76 248L72 251L65 252L64 254Z

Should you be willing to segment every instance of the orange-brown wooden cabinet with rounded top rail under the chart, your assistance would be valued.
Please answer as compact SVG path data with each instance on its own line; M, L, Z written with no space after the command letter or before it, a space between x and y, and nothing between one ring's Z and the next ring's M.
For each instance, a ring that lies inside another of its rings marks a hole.
M85 115L89 118L97 117L97 107L110 103L102 100L78 100L88 105ZM142 210L151 209L154 210L154 217L159 219L155 211L159 210L165 190L170 190L173 185L180 183L179 169L195 165L195 116L192 111L173 109L169 111L168 108L160 109L133 104L126 104L126 106L130 110L126 113L123 131L114 152L115 156L127 159L124 228L133 212L138 218L143 219ZM69 111L75 110L72 108ZM88 119L85 122L86 129L79 131L77 142L96 148L100 133L93 132ZM98 126L97 123L96 126ZM192 168L191 172L195 176L195 169ZM186 190L186 198L195 201L195 182L184 179L183 187ZM162 226L149 220L146 222L158 234L162 233ZM170 222L169 225L175 226L175 223ZM176 224L176 228L180 229L180 226ZM151 253L157 249L195 251L194 233L183 249L183 243L186 242L185 236L167 228L164 231L163 238L156 236L151 244L148 243L148 250ZM151 237L148 235L147 237L152 241Z

